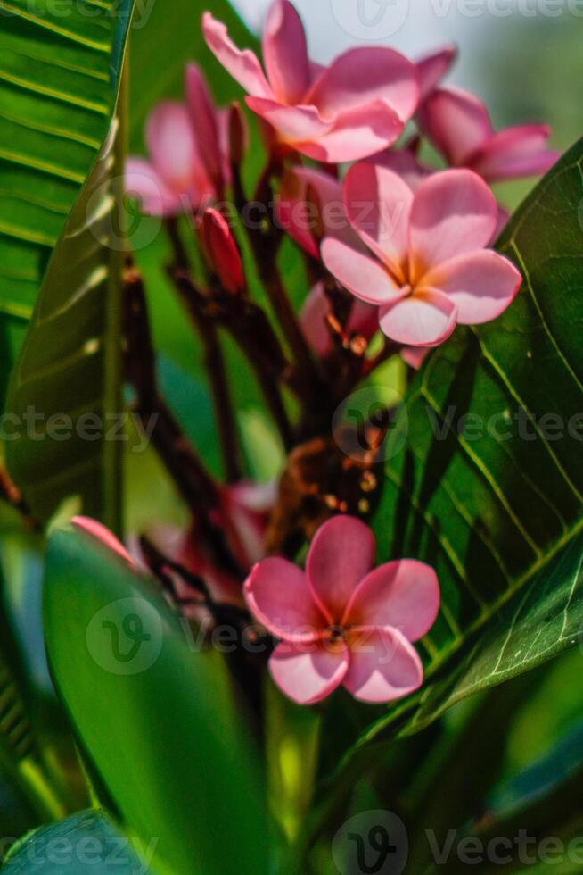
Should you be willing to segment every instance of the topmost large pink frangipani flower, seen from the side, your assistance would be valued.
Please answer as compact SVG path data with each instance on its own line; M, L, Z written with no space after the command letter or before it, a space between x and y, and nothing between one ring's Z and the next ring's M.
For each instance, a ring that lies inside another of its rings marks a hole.
M267 12L266 72L255 54L234 45L210 12L203 15L202 29L218 61L248 92L250 109L276 130L280 143L317 161L355 161L380 152L395 142L417 108L415 64L392 49L350 49L327 68L311 63L300 16L289 0L275 0Z

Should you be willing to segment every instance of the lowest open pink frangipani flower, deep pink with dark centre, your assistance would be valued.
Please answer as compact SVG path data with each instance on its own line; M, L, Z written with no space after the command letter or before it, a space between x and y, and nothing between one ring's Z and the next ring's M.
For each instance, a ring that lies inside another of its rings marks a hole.
M281 639L269 660L286 696L314 704L342 685L364 702L390 702L423 683L411 642L439 611L439 584L411 559L371 571L374 536L354 517L316 532L306 571L285 559L259 562L243 587L250 612Z

